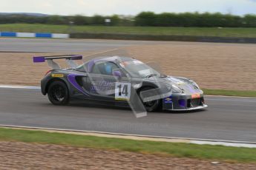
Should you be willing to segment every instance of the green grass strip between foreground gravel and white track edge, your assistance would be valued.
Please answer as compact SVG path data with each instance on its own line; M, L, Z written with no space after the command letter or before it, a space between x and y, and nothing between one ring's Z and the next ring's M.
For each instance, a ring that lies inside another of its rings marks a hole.
M191 157L198 159L256 163L256 149L228 146L167 143L148 140L128 140L110 137L68 135L57 132L42 132L6 128L0 128L0 140L19 141L26 143L47 143L95 149L114 149L117 151L139 152L145 154L163 154L165 156L175 157Z

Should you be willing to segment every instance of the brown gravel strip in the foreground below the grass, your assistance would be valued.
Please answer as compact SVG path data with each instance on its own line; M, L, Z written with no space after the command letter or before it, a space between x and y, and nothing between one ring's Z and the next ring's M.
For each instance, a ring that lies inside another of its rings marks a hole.
M0 169L256 169L252 163L168 157L39 143L0 142Z

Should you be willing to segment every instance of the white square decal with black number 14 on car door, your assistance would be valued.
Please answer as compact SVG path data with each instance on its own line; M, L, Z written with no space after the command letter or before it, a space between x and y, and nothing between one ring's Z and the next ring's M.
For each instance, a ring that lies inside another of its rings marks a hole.
M128 101L131 96L131 83L116 82L115 100Z

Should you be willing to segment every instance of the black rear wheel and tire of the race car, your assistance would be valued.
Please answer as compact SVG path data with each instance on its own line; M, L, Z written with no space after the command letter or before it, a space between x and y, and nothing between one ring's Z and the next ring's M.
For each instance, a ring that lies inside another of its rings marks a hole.
M47 90L47 96L54 105L67 105L69 102L68 87L62 81L53 81Z

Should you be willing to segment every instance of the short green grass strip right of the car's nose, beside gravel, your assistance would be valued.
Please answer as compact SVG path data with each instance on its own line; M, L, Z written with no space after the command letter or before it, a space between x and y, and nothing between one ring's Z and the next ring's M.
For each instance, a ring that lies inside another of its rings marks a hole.
M256 91L254 90L203 89L203 92L205 95L256 97Z

